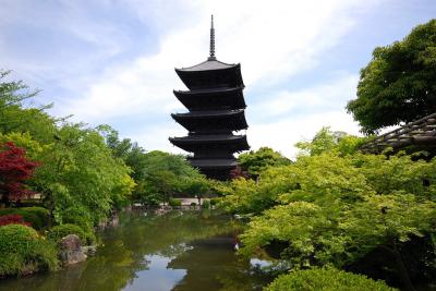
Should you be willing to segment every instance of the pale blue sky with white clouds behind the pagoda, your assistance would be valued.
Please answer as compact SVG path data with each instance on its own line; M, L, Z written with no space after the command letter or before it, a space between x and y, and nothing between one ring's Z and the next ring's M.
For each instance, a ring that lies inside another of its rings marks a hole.
M181 153L168 136L184 109L173 69L216 56L242 65L253 149L288 157L322 126L359 133L344 110L376 46L436 15L434 0L1 0L0 68L53 102L55 116L110 124L147 150Z

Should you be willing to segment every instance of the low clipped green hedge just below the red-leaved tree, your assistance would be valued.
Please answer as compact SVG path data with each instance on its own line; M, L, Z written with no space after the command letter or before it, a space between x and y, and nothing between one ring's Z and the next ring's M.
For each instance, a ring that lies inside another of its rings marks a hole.
M0 216L3 215L21 215L34 229L41 230L48 226L50 214L43 207L22 207L0 209Z

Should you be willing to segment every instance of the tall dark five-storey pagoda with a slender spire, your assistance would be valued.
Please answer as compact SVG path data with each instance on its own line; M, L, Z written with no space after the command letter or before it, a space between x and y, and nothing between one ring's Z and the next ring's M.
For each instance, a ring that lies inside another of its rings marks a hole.
M184 137L170 142L194 156L192 166L208 178L226 180L238 165L233 154L250 148L246 135L233 131L246 130L241 65L228 64L215 58L214 16L210 27L210 56L207 61L190 68L175 69L189 90L174 90L187 113L171 117L189 131Z

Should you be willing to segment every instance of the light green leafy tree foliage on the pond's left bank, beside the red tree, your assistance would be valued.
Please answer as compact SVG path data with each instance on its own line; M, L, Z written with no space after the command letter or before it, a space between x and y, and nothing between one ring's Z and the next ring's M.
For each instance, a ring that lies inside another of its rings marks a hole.
M48 107L25 107L23 100L36 92L28 92L22 82L4 82L8 73L0 73L0 141L16 143L40 162L27 184L43 195L55 219L62 222L65 209L78 207L98 223L112 208L126 205L135 184L124 154L114 148L105 129L53 119L45 112Z

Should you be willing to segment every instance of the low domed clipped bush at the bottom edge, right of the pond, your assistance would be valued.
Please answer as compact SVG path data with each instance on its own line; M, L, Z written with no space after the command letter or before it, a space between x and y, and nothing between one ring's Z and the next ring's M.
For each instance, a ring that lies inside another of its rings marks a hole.
M274 280L265 291L393 291L384 281L374 281L362 275L346 272L334 268L314 268L295 270L289 275L282 275Z

